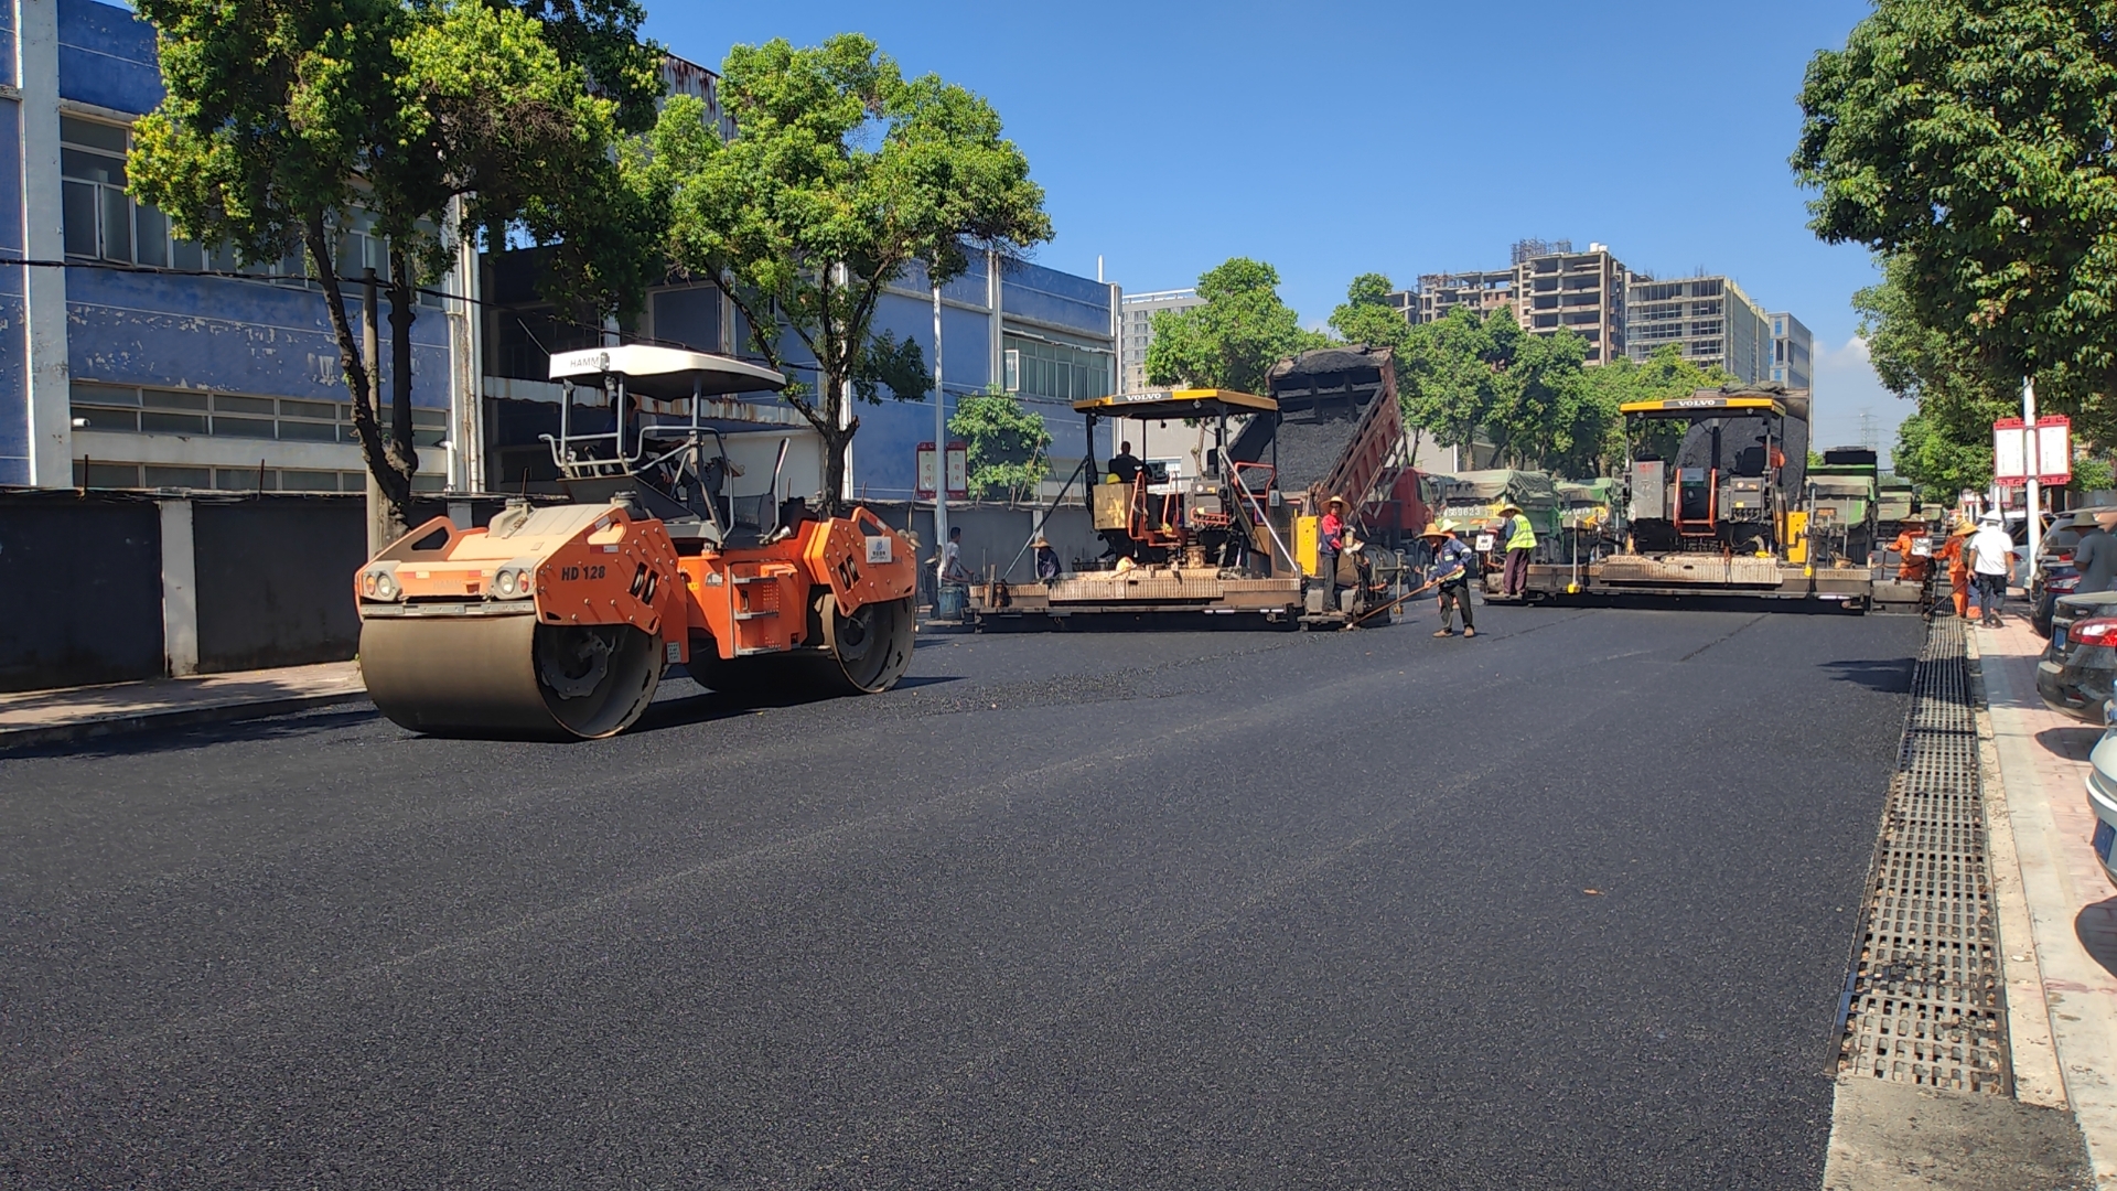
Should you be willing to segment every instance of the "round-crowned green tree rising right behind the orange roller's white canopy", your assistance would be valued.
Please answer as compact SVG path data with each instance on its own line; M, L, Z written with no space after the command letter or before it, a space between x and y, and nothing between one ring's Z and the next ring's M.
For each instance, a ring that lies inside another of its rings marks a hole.
M720 95L741 136L722 142L703 106L669 100L644 178L673 208L669 259L711 278L775 369L815 360L785 401L826 445L824 500L843 504L860 430L847 398L912 401L931 388L912 339L874 331L883 290L915 261L919 284L961 275L974 250L1018 254L1050 239L1044 189L982 97L934 74L904 78L857 34L821 47L739 45Z

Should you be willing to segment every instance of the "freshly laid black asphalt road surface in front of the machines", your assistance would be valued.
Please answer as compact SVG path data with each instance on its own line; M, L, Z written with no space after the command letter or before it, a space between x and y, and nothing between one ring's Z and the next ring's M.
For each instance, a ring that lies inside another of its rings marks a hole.
M1804 1187L1916 619L0 757L0 1187Z

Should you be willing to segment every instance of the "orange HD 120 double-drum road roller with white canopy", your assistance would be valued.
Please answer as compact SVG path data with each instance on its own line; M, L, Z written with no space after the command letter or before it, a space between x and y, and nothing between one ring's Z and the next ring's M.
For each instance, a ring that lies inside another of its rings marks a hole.
M771 369L675 348L561 352L572 502L512 500L487 528L436 517L354 579L375 706L432 735L591 740L646 712L669 665L758 695L879 693L912 657L917 559L874 513L817 517L741 475L709 396ZM578 407L578 381L597 394ZM688 409L686 409L688 407Z

